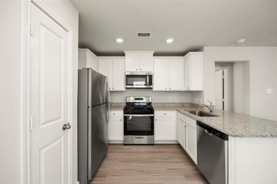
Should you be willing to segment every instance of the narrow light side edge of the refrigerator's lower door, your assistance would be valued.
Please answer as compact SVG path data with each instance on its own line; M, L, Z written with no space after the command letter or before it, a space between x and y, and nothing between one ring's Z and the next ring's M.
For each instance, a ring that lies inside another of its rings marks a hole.
M87 160L88 160L88 165L87 165L87 178L89 180L92 179L92 176L91 176L91 173L92 173L92 170L91 170L91 107L88 107L87 108L87 114L88 114L88 122L87 122L87 149L88 149L88 152L87 152Z

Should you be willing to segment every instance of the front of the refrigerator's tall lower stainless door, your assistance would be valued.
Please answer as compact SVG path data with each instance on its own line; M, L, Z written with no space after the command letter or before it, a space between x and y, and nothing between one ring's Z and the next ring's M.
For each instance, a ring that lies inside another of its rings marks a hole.
M102 160L107 154L108 140L107 140L107 117L106 105L100 104L91 108L91 176L93 176ZM90 142L90 141L89 141Z

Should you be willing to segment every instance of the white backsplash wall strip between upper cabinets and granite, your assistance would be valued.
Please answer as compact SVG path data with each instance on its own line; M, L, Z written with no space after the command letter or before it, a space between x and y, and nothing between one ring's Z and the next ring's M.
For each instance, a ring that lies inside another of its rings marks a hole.
M111 102L125 102L126 96L151 96L152 102L193 102L190 91L152 91L152 89L126 89L112 91Z

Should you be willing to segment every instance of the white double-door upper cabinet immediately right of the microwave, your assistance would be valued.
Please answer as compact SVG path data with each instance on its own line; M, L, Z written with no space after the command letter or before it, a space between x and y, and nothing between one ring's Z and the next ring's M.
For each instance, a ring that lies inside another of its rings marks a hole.
M153 75L153 91L183 91L184 57L155 57Z

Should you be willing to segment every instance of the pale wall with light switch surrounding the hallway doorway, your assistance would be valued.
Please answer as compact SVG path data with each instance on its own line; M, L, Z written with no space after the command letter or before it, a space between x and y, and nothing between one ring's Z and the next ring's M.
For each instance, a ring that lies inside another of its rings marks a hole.
M203 98L213 102L217 61L249 61L249 114L277 120L277 47L204 47Z

